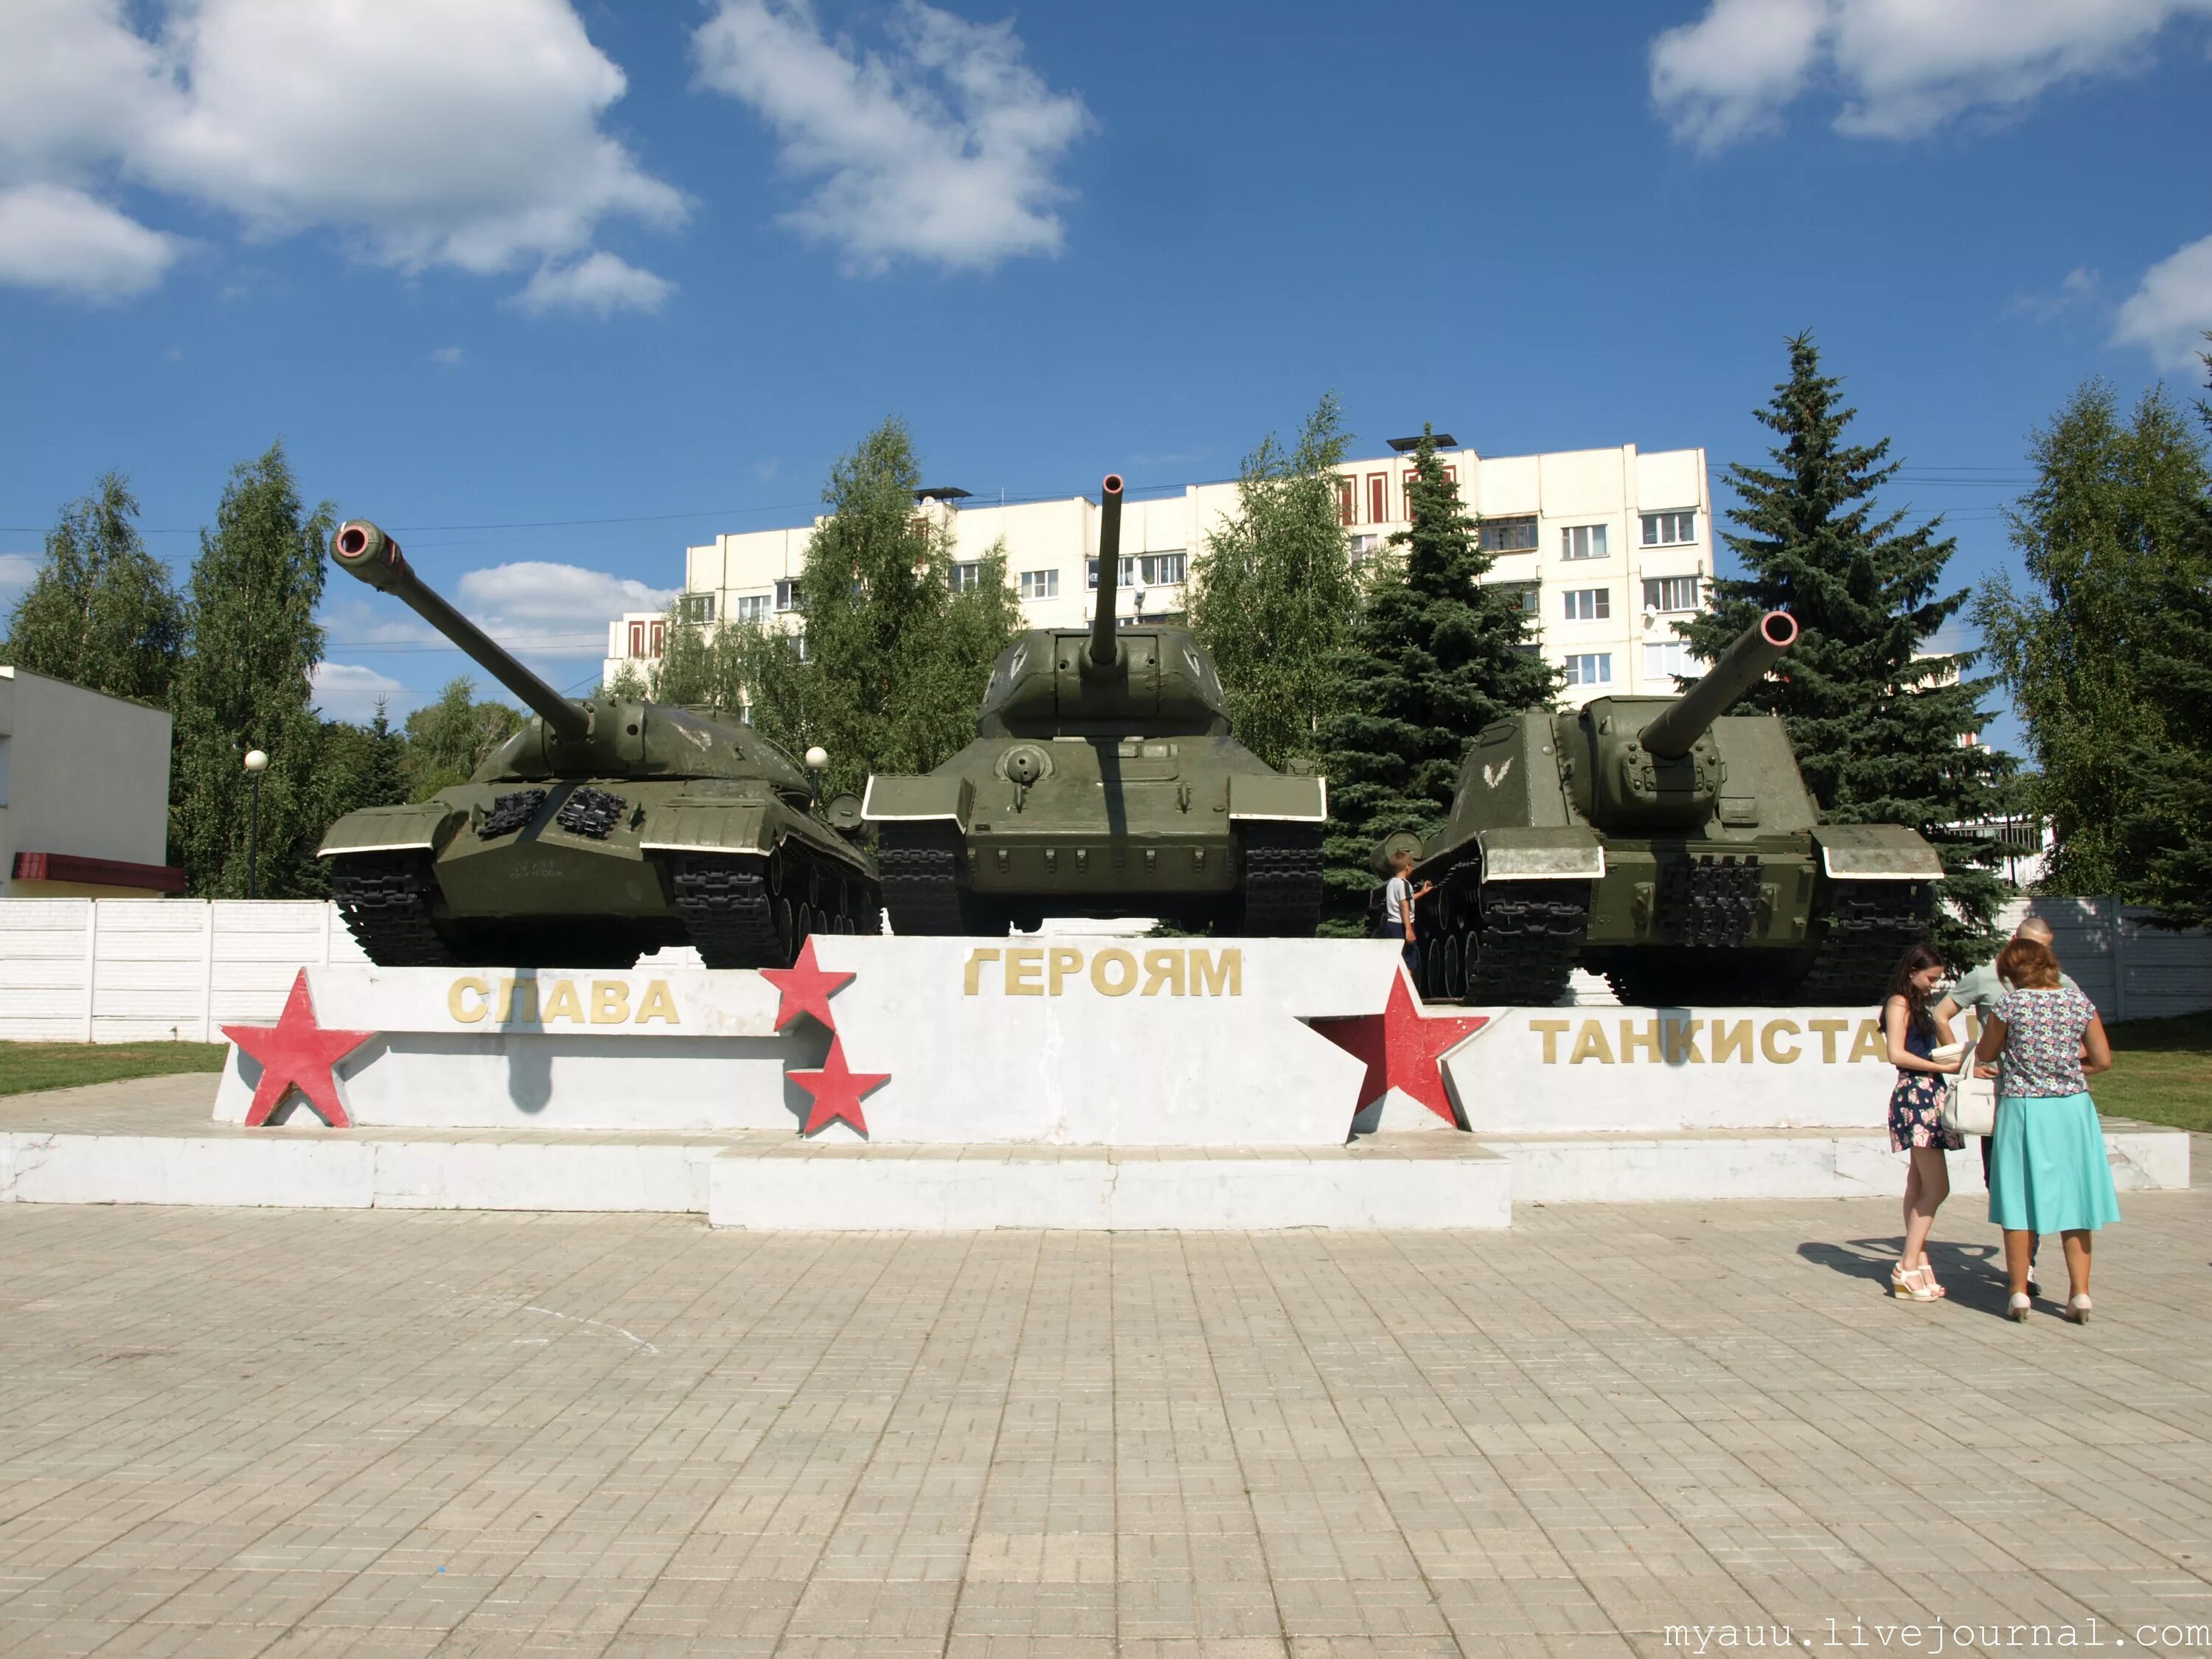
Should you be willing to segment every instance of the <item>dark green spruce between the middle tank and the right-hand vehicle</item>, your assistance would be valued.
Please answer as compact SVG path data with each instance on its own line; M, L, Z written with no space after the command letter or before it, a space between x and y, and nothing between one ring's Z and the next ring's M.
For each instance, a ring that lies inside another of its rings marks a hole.
M1336 659L1336 712L1323 721L1327 933L1365 929L1378 841L1398 830L1429 836L1444 823L1475 732L1546 708L1559 686L1520 597L1482 586L1493 560L1436 458L1431 427L1413 451L1407 518L1367 582Z

